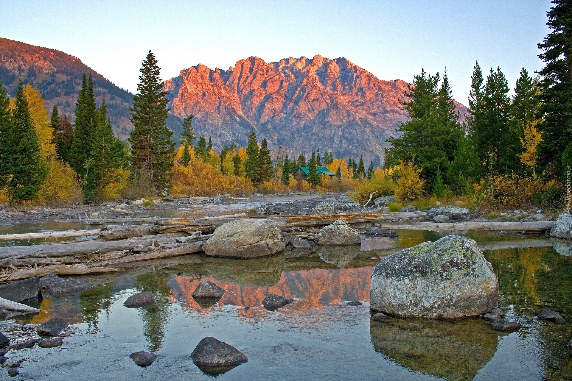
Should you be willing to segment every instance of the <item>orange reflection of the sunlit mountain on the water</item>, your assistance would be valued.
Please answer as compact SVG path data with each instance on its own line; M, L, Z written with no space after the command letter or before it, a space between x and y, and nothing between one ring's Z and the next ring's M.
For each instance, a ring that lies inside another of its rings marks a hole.
M309 307L321 308L343 300L370 300L370 279L373 267L355 267L324 270L315 268L308 271L284 271L280 280L269 287L240 286L221 282L215 277L197 279L192 276L175 276L180 291L171 290L172 302L180 300L186 308L198 311L210 311L224 304L241 307L260 307L268 294L295 298L290 310L307 310ZM210 280L227 292L213 307L202 308L191 294L202 280ZM256 309L240 310L244 316L256 314Z

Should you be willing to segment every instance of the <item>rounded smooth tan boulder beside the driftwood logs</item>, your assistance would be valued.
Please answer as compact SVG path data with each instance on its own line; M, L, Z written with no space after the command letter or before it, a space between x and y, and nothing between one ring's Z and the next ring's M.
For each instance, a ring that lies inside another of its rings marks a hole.
M259 258L283 251L285 246L276 222L247 218L218 227L204 243L202 250L208 256Z

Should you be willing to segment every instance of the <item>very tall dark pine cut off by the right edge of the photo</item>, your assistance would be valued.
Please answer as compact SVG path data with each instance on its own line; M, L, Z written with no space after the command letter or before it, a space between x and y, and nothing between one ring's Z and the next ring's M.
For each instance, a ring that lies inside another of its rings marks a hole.
M541 109L544 120L538 126L542 142L538 147L538 164L553 169L559 177L567 170L562 154L572 145L572 3L554 0L546 23L552 30L538 48L545 67L538 74Z

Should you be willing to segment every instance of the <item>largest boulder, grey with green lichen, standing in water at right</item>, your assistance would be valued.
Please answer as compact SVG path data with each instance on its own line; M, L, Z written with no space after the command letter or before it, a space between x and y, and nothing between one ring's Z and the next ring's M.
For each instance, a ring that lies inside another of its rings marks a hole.
M489 311L498 292L498 279L476 242L449 235L375 266L370 307L388 315L453 320Z

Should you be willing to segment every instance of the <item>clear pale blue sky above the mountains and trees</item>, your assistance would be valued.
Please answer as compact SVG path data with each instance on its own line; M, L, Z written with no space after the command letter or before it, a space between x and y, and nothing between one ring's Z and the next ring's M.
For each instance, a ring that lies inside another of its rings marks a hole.
M541 69L547 0L519 1L7 1L0 37L61 50L136 92L150 49L162 78L202 63L228 69L320 54L345 57L379 79L447 69L467 105L471 73L501 67L514 88L522 67Z

